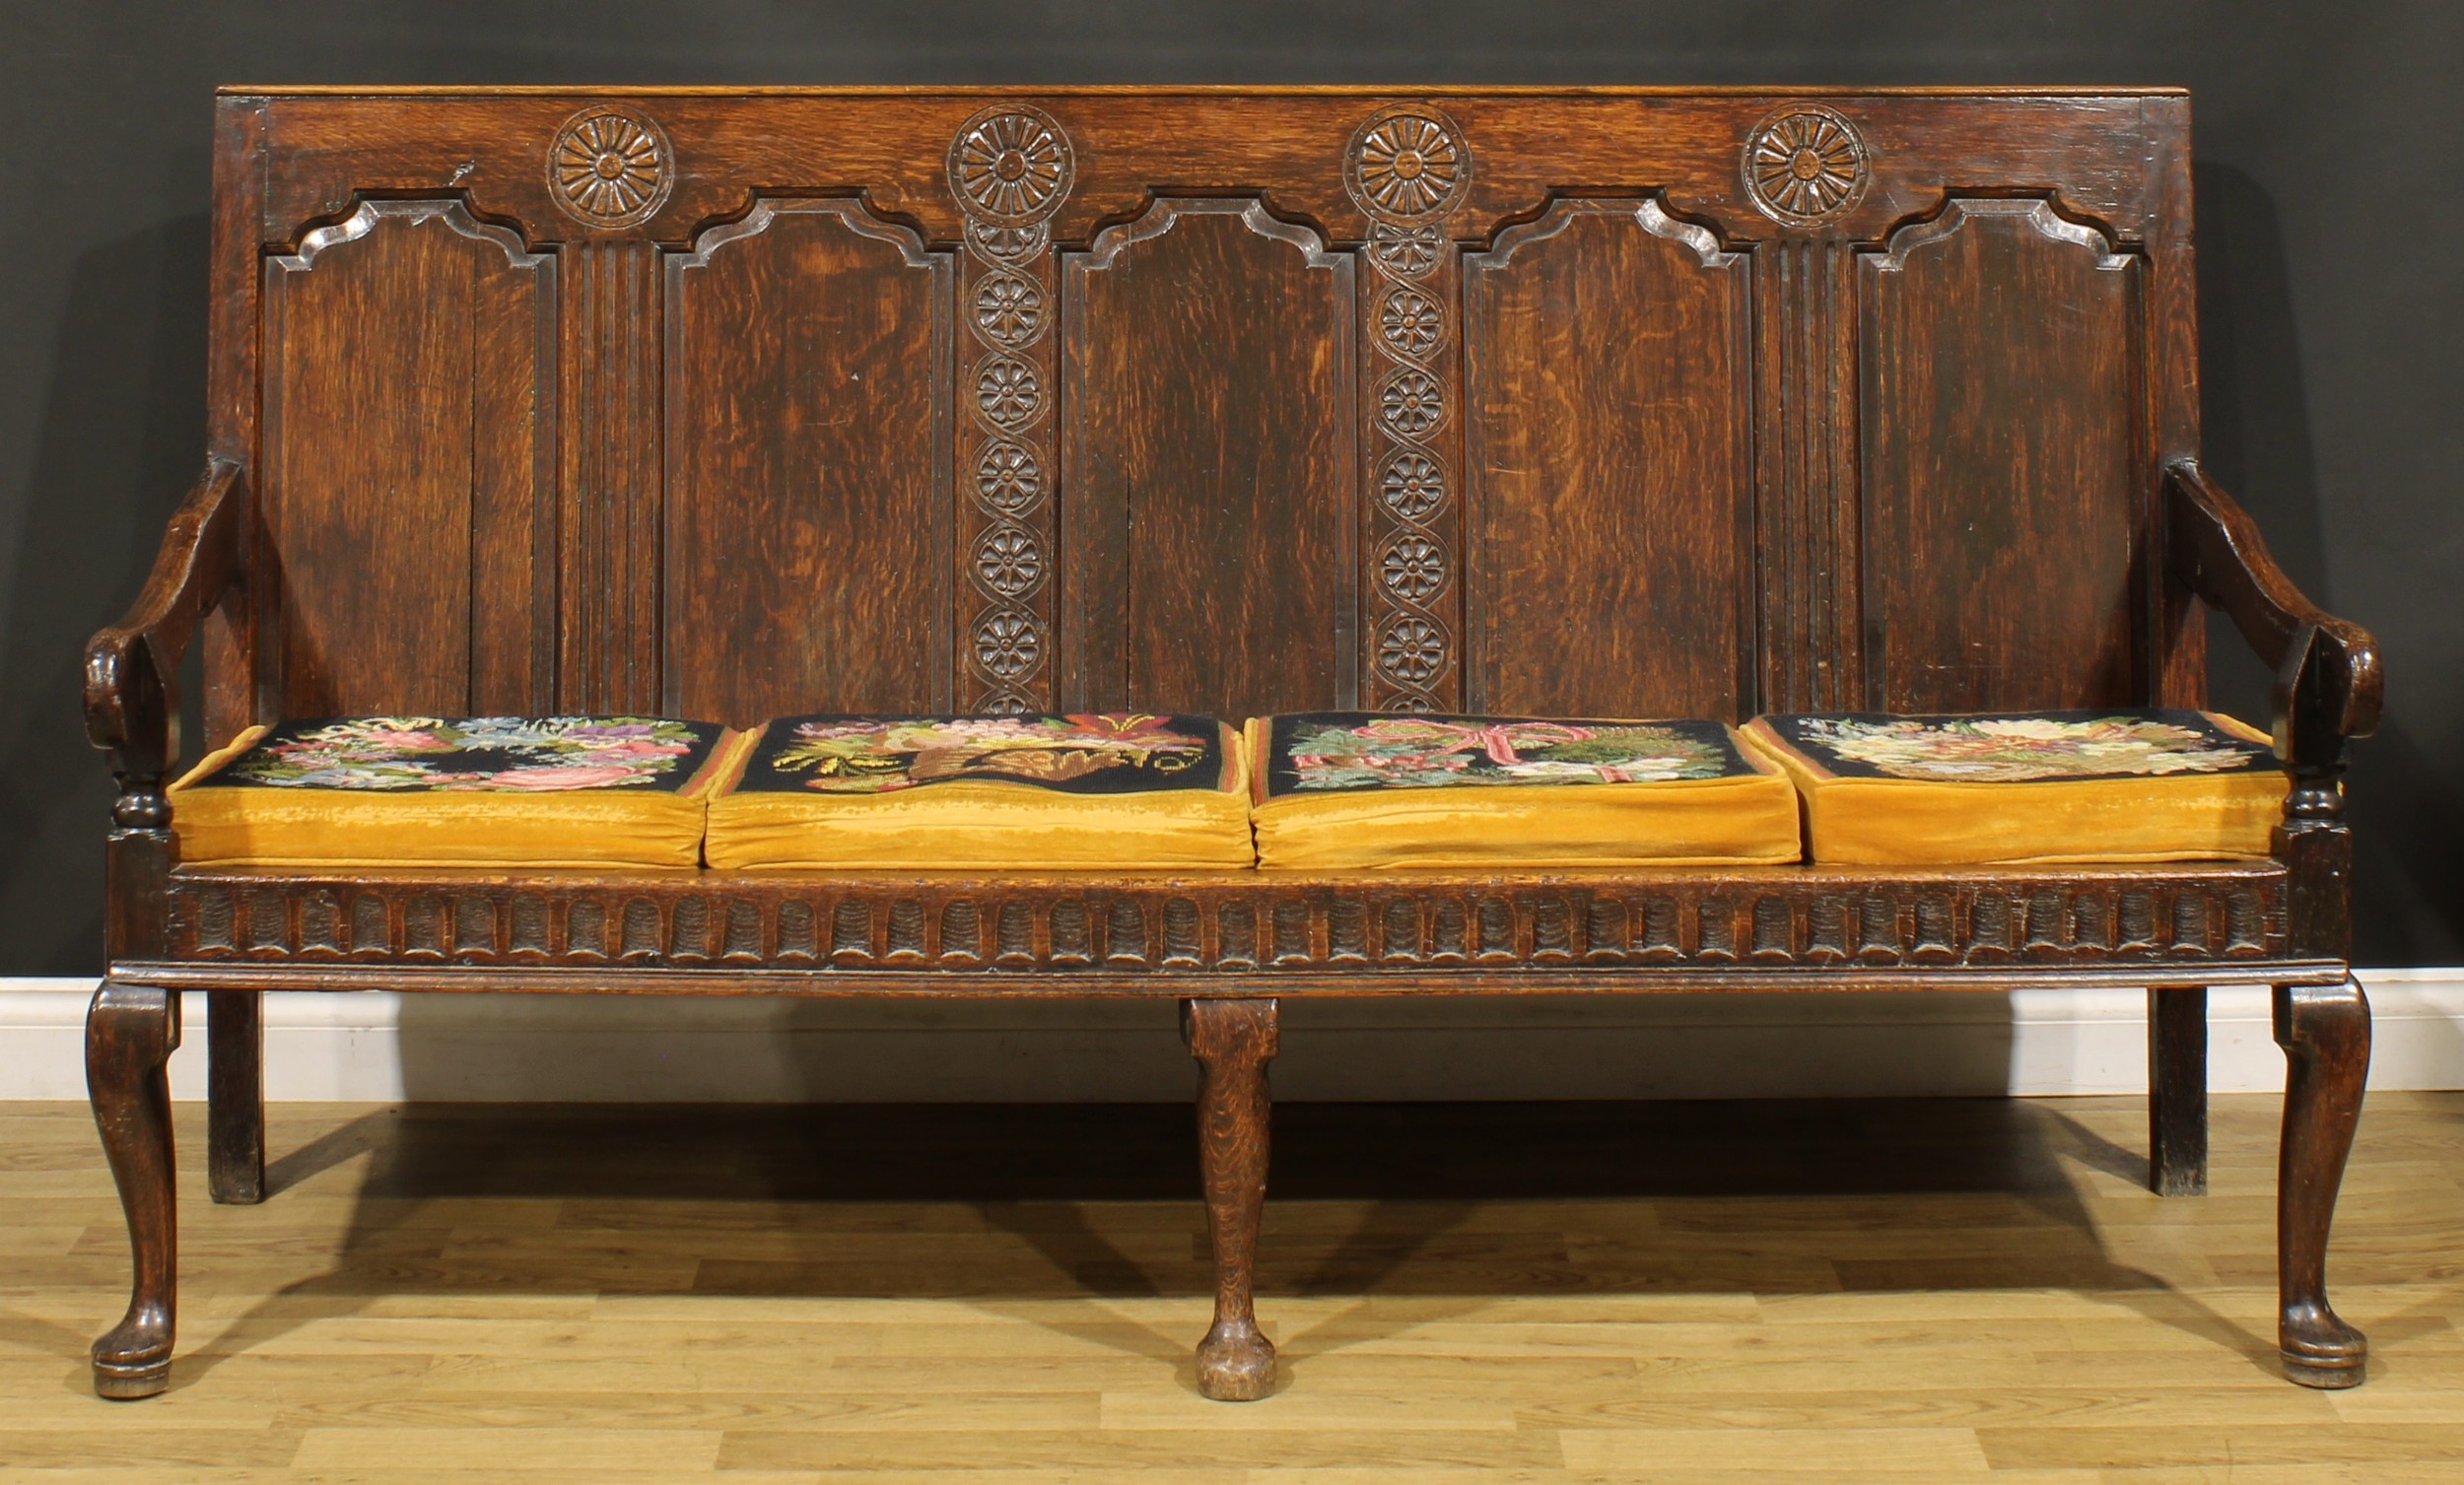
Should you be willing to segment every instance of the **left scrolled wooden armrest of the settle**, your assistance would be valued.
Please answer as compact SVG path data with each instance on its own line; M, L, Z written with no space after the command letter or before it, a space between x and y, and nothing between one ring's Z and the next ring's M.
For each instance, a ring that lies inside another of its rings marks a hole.
M163 773L177 756L172 677L197 623L239 574L239 512L246 480L232 461L209 461L163 529L145 591L128 613L86 643L86 736L111 754L121 781L113 818L126 827L170 820Z

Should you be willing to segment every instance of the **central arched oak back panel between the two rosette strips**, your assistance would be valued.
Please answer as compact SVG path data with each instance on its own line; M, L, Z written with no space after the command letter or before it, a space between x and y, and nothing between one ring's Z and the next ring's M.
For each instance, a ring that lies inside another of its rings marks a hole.
M1257 202L1163 199L1064 261L1062 694L1350 704L1353 259Z

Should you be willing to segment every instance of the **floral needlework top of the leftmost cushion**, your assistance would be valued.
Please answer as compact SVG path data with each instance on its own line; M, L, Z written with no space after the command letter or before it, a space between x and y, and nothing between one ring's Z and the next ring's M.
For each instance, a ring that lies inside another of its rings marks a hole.
M660 717L347 717L286 722L209 783L347 791L675 791L719 729Z

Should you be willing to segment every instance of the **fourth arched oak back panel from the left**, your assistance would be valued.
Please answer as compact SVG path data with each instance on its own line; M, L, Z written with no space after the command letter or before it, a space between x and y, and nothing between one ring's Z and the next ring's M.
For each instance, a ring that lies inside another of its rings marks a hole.
M1565 199L1464 281L1471 709L1749 717L1749 266L1658 202Z

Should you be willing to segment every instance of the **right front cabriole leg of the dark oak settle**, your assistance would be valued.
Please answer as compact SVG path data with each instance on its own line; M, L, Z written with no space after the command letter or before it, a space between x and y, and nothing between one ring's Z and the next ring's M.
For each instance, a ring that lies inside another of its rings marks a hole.
M2304 1386L2358 1386L2370 1342L2326 1303L2326 1234L2370 1074L2370 1000L2361 983L2277 985L2284 1047L2284 1145L2277 1165L2277 1350Z

